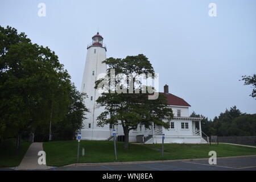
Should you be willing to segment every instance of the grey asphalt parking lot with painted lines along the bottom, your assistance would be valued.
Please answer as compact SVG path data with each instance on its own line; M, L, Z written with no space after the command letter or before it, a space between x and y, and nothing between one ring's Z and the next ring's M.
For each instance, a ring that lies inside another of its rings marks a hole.
M83 167L57 167L51 171L256 171L256 156L218 159L216 165L208 160L183 162L147 163L147 164L115 164Z

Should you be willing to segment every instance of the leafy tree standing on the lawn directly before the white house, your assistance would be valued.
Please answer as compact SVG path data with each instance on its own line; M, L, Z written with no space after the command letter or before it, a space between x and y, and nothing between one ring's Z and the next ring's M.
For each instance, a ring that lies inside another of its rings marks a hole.
M125 134L125 149L128 148L130 130L137 129L139 124L149 128L151 122L154 122L156 125L167 128L167 122L164 122L163 119L170 120L173 114L172 110L167 107L166 96L160 94L156 100L148 100L150 93L144 93L146 89L142 82L137 82L135 77L129 75L129 73L137 73L138 75L151 73L154 75L154 69L147 57L142 54L127 56L125 59L110 57L103 63L109 66L106 77L110 79L104 82L104 88L107 92L102 93L102 96L96 100L99 105L105 107L105 111L97 118L97 125L121 124ZM122 74L114 80L114 86L111 83L110 71L112 69L114 69L116 75ZM129 80L132 82L131 85L129 85ZM139 86L136 87L136 83ZM102 79L97 80L95 88L97 89L101 85ZM117 87L122 89L121 93L115 92L114 89ZM133 93L129 93L129 89L132 89ZM135 93L135 89L138 89L139 92ZM114 93L112 93L113 90Z

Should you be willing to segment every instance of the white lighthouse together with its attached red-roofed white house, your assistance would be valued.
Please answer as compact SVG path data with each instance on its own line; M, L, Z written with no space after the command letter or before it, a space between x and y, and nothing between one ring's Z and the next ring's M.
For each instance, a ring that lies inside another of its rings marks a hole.
M106 59L106 46L102 43L103 38L97 32L92 37L92 43L87 46L87 55L82 77L81 92L88 94L85 99L85 105L90 110L84 120L84 128L81 129L81 139L84 140L112 140L112 130L115 129L117 139L123 140L123 129L121 125L97 126L97 117L104 111L104 107L96 103L100 93L94 89L97 75L106 73L106 64L102 61ZM207 143L202 138L201 118L189 117L189 105L183 98L177 97L168 92L168 85L164 85L164 94L168 100L168 107L171 107L174 118L170 121L170 129L164 129L162 126L152 123L150 129L144 126L138 126L137 130L131 130L129 133L129 142L142 143L162 143L164 134L164 143Z

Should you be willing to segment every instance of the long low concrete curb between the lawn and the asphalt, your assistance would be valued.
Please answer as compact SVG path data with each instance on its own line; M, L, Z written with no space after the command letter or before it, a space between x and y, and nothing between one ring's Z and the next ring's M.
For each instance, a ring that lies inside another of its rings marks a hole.
M232 158L249 158L256 155L240 155L240 156L227 156L220 157L217 159L232 159ZM82 166L102 166L102 165L120 165L120 164L147 164L147 163L170 163L170 162L183 162L183 161L193 161L193 160L208 160L209 158L199 158L199 159L175 159L175 160L148 160L148 161L135 161L135 162L110 162L110 163L75 163L68 164L66 166L60 167L82 167Z

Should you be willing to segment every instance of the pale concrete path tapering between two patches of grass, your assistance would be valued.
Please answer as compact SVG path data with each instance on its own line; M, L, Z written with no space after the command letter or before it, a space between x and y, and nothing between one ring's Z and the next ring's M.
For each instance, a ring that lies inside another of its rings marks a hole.
M28 148L26 155L22 159L22 162L19 164L16 170L34 170L34 169L49 169L52 167L48 167L44 164L39 165L38 159L38 152L43 151L43 143L42 142L35 142L30 145Z

